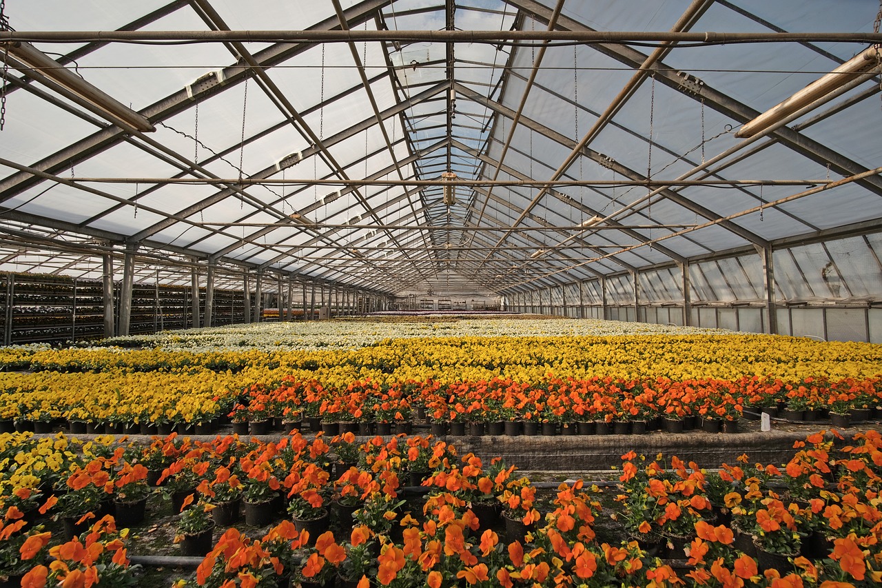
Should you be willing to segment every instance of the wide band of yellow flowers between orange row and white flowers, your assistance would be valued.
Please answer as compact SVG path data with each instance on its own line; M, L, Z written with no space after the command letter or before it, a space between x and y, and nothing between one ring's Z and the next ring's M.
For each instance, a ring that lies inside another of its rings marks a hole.
M338 389L369 378L871 378L882 372L882 346L768 335L436 337L352 351L43 350L31 366L44 371L0 373L0 418L198 422L243 388L284 376Z

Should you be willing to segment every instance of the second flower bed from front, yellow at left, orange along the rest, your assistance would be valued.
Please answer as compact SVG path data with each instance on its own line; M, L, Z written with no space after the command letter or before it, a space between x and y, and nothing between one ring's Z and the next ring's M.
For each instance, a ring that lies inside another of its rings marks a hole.
M249 374L256 376L258 371ZM7 388L0 394L0 420L51 423L64 418L81 422L84 430L71 429L78 433L86 432L87 420L107 423L116 433L138 432L139 425L163 426L168 433L178 423L207 425L228 417L241 422L277 418L298 428L309 418L320 418L325 423L387 424L428 419L447 426L467 422L501 426L523 421L572 427L575 431L578 423L645 424L654 418L731 422L745 409L754 413L799 411L796 420L804 418L806 409L811 410L813 418L854 412L856 420L866 420L875 417L882 406L882 378L878 376L841 380L805 377L800 381L744 376L736 380L672 381L579 380L549 375L532 383L497 377L450 383L432 379L392 384L363 380L333 387L300 374L280 376L277 384L235 388L241 379L212 371L125 373L124 382L115 374L48 373L39 386L27 388L25 382L31 375L12 374L7 378L7 384L17 384L17 388ZM848 426L848 422L838 422L837 426ZM638 432L643 430L645 425ZM145 429L142 433L156 432ZM448 432L440 428L436 431Z

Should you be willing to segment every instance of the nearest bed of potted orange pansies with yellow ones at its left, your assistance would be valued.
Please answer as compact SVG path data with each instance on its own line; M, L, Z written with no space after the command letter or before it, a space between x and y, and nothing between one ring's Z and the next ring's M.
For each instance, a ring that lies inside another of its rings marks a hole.
M596 486L564 483L542 499L514 467L460 458L423 437L172 435L140 447L0 435L0 562L5 574L23 574L24 586L131 584L129 531L101 516L101 497L131 502L151 492L147 472L162 467L163 493L184 494L182 545L198 548L188 542L198 531L217 538L197 572L197 583L213 588L276 586L279 577L361 588L878 584L882 435L847 443L818 433L795 449L787 464L744 456L719 472L626 454L609 513ZM402 486L417 481L428 494L404 501ZM249 521L246 509L246 532L216 522L238 499L270 514ZM329 506L335 523L322 527ZM78 516L86 528L59 537L41 527L40 512ZM610 519L624 535L604 527ZM44 562L47 554L55 562Z

